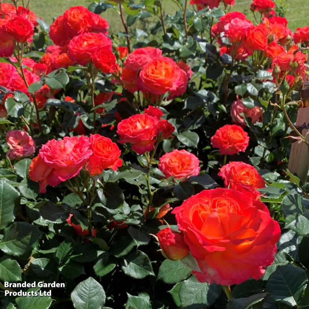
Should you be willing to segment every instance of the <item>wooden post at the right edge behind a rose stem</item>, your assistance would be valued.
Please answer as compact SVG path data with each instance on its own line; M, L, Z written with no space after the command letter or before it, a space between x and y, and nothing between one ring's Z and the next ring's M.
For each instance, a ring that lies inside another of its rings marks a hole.
M309 64L309 57L307 63ZM309 104L309 82L307 80L308 74L305 75L303 82L303 89L301 91L301 99L303 101L303 106L308 106ZM299 108L297 113L296 126L300 126L309 123L309 107ZM306 129L303 129L303 136L307 133ZM308 140L307 135L307 140ZM294 142L292 144L288 169L292 174L296 174L298 178L305 183L307 180L307 174L309 170L309 153L308 147L305 143Z

